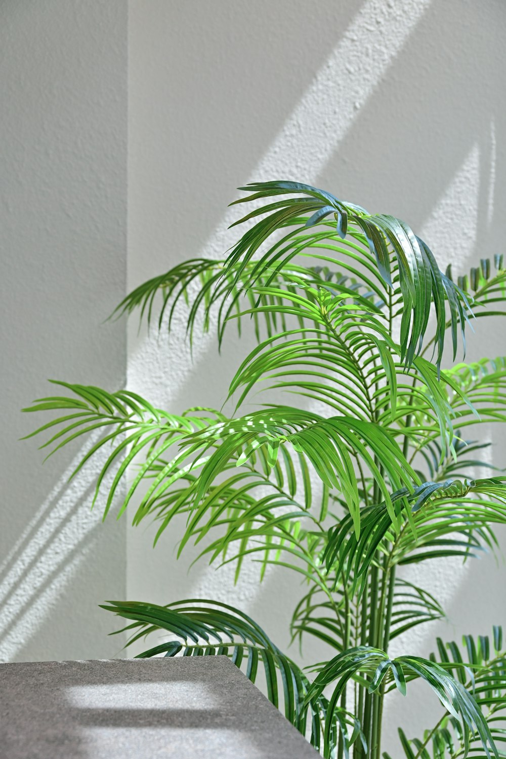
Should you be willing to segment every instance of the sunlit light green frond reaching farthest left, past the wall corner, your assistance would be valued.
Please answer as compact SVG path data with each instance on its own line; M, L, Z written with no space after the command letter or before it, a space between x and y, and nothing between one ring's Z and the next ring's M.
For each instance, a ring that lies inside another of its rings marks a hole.
M89 446L71 476L75 476L92 455L107 446L108 455L98 474L94 496L95 502L106 475L114 473L105 514L114 502L120 481L126 477L127 467L136 461L136 457L144 455L118 515L125 512L134 494L140 492L133 524L139 524L148 516L157 519L160 527L155 540L174 518L184 515L186 528L180 550L186 543L199 543L210 531L217 531L220 537L215 537L204 553L215 560L221 553L225 556L229 546L239 543L240 548L234 556L238 572L246 554L261 552L264 554L263 574L270 555L278 554L281 548L283 551L291 549L303 563L311 562L311 553L301 543L301 536L305 535L305 531L301 531L301 521L314 521L317 516L325 518L328 488L323 486L319 514L310 513L309 509L318 501L311 493L304 452L295 452L295 465L286 442L280 442L275 459L267 446L267 450L259 448L251 453L248 461L240 462L244 446L239 446L216 471L220 481L215 483L214 477L210 477L203 488L199 471L205 467L206 457L198 456L195 463L195 458L187 455L184 449L183 453L180 452L180 445L185 441L186 446L191 444L194 452L195 438L188 437L188 433L205 427L211 429L218 421L214 435L206 436L201 445L219 451L223 422L227 421L223 414L204 408L195 408L180 416L166 414L138 395L108 394L89 386L61 384L72 395L39 399L27 411L64 411L64 416L42 425L32 435L49 433L49 439L41 447L49 447L53 453L78 437L102 432L102 437ZM165 458L171 452L172 458ZM239 463L242 466L238 468ZM301 494L303 505L296 499L296 493ZM197 498L199 505L195 509ZM228 557L227 560L232 559ZM294 568L295 564L290 566ZM315 578L320 582L317 575Z

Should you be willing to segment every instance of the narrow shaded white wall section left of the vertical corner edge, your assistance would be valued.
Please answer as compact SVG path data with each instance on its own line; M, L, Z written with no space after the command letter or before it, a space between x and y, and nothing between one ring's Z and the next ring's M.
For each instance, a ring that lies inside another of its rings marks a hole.
M20 408L49 377L125 381L126 2L0 5L0 661L117 653L105 597L125 595L125 525L92 514L79 446L42 467Z

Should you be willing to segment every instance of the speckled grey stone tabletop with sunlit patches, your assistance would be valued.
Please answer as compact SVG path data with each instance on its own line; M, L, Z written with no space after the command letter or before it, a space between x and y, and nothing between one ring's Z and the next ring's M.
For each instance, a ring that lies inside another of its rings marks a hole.
M315 759L226 657L0 664L2 759Z

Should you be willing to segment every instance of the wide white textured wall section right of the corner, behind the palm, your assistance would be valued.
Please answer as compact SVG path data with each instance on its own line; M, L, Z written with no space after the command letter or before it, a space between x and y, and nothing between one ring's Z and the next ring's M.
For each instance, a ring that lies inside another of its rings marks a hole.
M130 0L128 287L222 254L234 240L226 205L235 187L269 178L400 216L454 270L502 252L505 32L501 0ZM470 359L506 353L504 327L494 338L491 329L477 326ZM206 338L192 363L183 332L148 339L132 324L129 384L173 411L219 407L247 350L232 340L219 360ZM504 434L488 434L504 465ZM129 531L129 597L230 600L286 644L298 581L280 570L259 586L251 568L234 588L231 572L204 565L187 575L193 556L175 563L177 535L151 550L153 535ZM404 649L426 655L438 633L506 622L505 578L489 558L428 568L420 584L449 622L420 628ZM439 714L429 698L420 717L414 691L387 713L394 756L397 724L416 735Z

